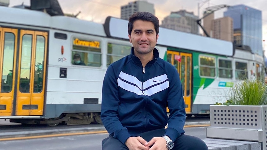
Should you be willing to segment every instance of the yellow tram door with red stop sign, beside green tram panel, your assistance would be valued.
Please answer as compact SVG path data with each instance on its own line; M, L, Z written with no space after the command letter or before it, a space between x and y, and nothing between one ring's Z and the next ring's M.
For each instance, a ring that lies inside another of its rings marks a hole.
M183 88L186 112L192 111L192 54L167 51L167 61L177 69ZM167 108L168 109L168 108ZM168 109L169 112L169 109Z

